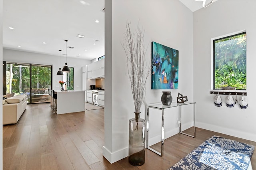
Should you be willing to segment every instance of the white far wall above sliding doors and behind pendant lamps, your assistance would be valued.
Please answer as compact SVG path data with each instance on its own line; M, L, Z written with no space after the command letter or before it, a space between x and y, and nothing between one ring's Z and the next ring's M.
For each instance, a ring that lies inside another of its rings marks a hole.
M32 64L43 64L52 65L52 88L54 90L60 90L60 84L62 80L61 75L56 75L61 63L61 69L65 65L66 57L61 57L59 51L56 50L56 56L46 55L40 53L31 53L25 51L17 51L12 49L3 50L3 61L9 61L14 63L32 63ZM88 65L90 60L76 59L67 57L69 67L74 67L74 90L82 90L82 67Z

